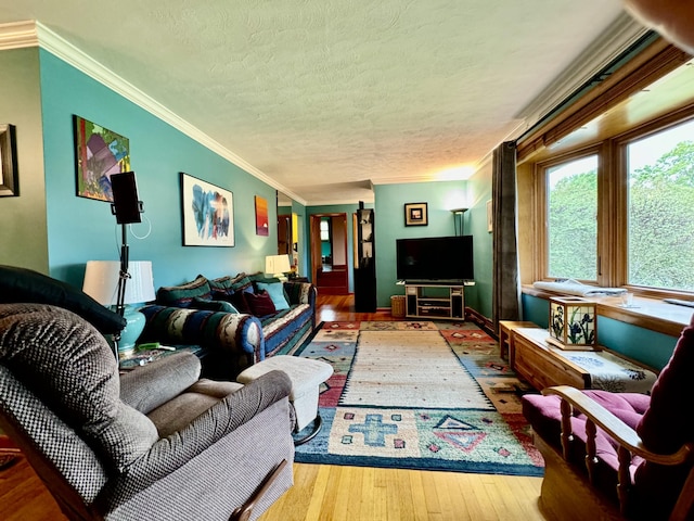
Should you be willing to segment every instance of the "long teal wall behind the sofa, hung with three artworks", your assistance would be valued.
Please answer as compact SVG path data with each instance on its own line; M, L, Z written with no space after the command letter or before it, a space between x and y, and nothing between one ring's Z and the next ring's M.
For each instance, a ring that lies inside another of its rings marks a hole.
M75 114L130 140L145 209L144 223L128 236L130 258L152 260L155 287L198 274L262 270L265 256L277 253L277 227L268 237L256 234L254 201L266 198L269 221L277 223L274 188L43 50L40 88L51 276L81 285L87 260L116 259L119 253L120 227L110 204L76 196ZM235 247L182 246L181 171L233 193Z

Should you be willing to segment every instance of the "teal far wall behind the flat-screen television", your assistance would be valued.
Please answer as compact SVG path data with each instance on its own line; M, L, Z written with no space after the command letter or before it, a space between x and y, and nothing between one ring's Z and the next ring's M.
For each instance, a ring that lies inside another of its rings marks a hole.
M378 185L375 191L376 295L378 307L390 307L391 295L404 294L397 285L396 240L455 234L452 208L466 205L465 181ZM427 226L404 226L404 204L427 203ZM465 215L465 234L470 234ZM460 231L460 226L459 226ZM475 250L477 244L473 239ZM475 266L475 276L477 266ZM466 296L467 298L467 296ZM466 305L467 302L465 303Z

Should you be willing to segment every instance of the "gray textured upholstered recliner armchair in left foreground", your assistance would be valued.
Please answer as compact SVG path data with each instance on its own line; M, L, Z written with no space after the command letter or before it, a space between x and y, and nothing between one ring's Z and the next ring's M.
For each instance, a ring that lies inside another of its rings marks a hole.
M286 376L198 378L189 354L119 376L77 315L0 304L0 428L70 519L255 519L292 485Z

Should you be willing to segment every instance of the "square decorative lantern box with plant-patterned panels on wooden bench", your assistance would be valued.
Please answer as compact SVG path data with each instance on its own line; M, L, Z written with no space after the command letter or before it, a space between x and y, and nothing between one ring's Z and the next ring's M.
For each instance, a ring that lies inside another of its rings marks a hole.
M562 350L594 350L597 344L595 303L578 296L550 297L548 342Z

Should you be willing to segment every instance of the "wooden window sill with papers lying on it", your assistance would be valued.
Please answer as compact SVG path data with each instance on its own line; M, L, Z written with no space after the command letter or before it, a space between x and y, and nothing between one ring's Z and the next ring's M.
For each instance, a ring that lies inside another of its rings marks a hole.
M554 293L547 290L538 290L532 285L524 284L523 293L549 300L551 296L560 296L562 293ZM667 304L660 298L648 298L645 296L633 297L632 307L624 307L621 298L618 296L591 297L597 303L597 315L619 320L621 322L639 326L659 333L679 336L685 326L689 326L694 314L694 308Z

